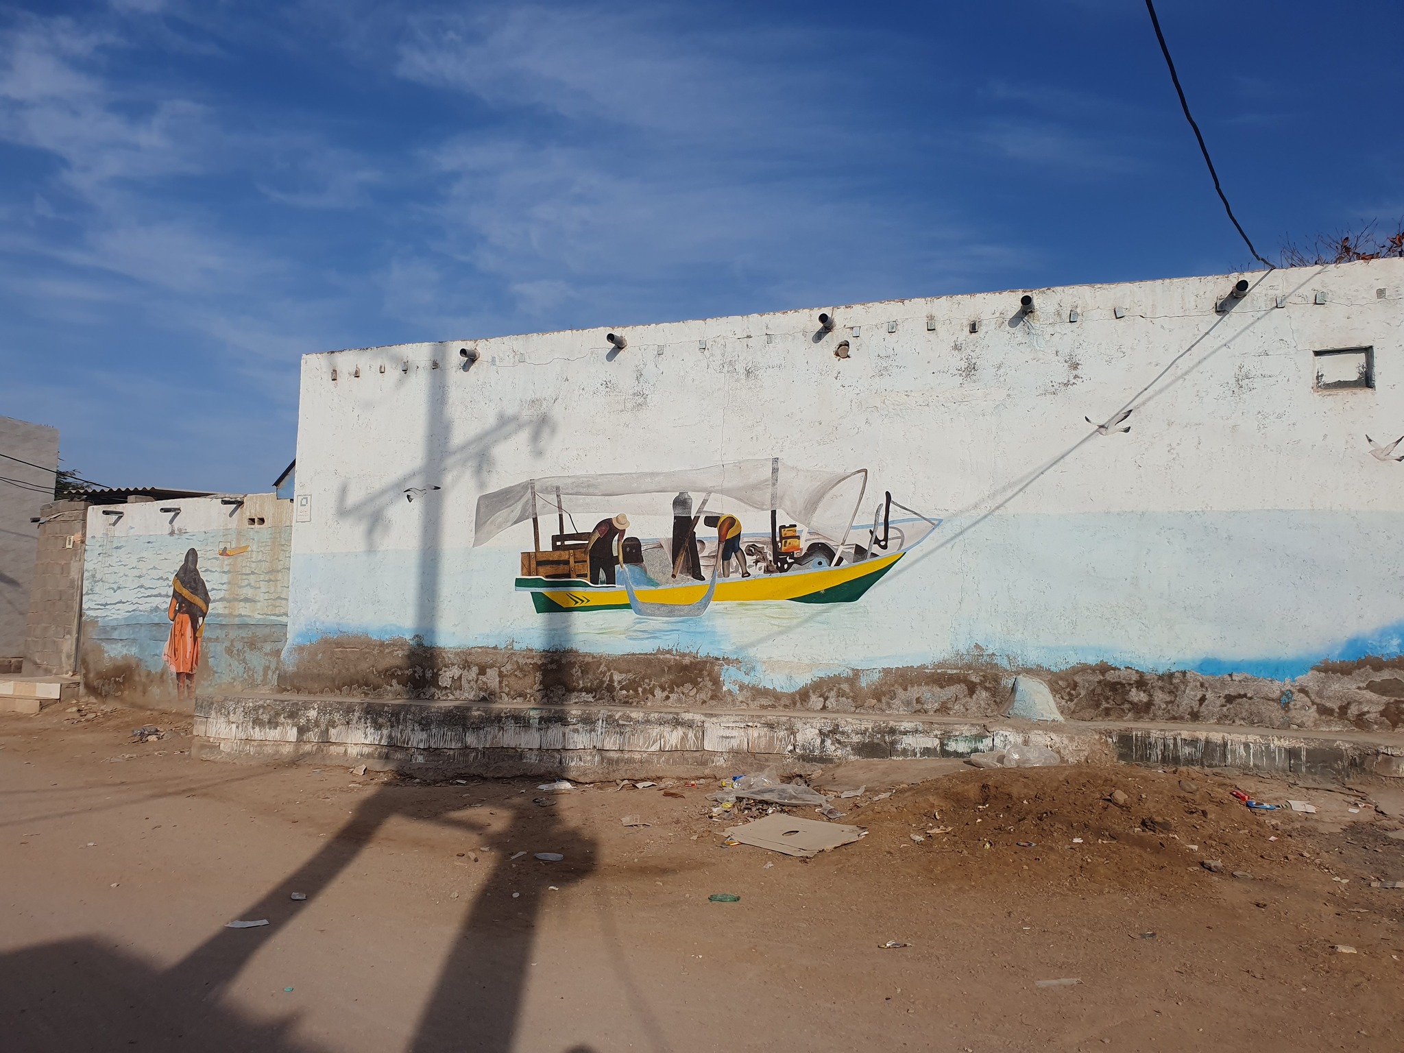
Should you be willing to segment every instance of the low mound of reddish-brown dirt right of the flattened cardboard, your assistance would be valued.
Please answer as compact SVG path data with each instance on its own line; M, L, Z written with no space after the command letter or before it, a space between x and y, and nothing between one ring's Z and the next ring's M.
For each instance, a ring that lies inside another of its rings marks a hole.
M1290 812L1257 813L1203 772L1068 765L970 769L896 790L842 820L943 880L1205 887L1203 861L1271 878L1313 855ZM1304 855L1303 855L1304 852Z

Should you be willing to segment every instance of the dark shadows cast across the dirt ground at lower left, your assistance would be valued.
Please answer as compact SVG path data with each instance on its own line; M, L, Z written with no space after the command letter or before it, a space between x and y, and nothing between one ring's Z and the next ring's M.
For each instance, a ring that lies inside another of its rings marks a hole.
M199 1049L208 1053L330 1050L293 1035L298 1016L270 1022L267 1014L243 1012L222 1001L243 967L296 922L323 890L393 819L428 821L462 834L484 833L479 824L451 817L458 795L416 793L382 786L303 866L268 887L237 918L267 918L251 929L219 928L170 969L159 970L93 939L69 939L0 955L0 1021L6 1047L27 1053L73 1050ZM507 803L508 827L494 841L557 845L566 862L542 872L514 872L505 854L494 852L486 879L465 915L445 965L403 1047L414 1053L483 1050L507 1053L519 1026L526 969L546 883L584 880L594 870L594 841L566 828L553 807L538 807L522 795ZM306 892L307 903L289 900ZM514 900L512 892L521 892ZM573 1046L563 1053L592 1053Z

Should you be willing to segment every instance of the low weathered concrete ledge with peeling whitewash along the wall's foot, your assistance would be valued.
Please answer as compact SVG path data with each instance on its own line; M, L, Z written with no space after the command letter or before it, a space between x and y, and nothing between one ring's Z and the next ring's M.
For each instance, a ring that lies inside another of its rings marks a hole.
M199 698L195 736L195 755L206 760L344 760L434 776L564 775L585 781L731 775L769 765L803 771L866 758L967 757L1014 743L1052 746L1068 761L1230 767L1318 781L1366 775L1382 757L1404 757L1404 736L1394 734L286 695Z

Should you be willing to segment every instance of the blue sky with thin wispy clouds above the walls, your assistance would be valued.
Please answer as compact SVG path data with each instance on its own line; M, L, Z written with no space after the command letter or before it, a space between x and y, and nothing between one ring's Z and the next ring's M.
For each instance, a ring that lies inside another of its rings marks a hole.
M1276 258L1404 216L1401 4L1161 0ZM267 489L309 351L1247 267L1136 0L0 8L0 414Z

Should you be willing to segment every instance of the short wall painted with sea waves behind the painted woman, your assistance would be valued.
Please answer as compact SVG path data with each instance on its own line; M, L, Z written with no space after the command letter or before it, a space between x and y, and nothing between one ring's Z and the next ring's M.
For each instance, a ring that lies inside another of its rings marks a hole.
M174 702L163 651L171 578L188 549L209 590L198 691L275 684L286 640L291 501L272 494L163 500L88 510L83 581L86 691ZM180 508L178 514L171 510Z

